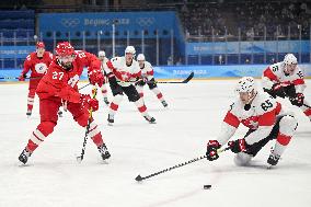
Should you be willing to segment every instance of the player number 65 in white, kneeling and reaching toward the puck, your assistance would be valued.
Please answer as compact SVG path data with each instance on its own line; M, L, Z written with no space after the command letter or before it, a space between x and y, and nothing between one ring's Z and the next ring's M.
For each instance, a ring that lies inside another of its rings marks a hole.
M237 153L237 165L247 165L252 158L270 140L276 139L267 163L276 165L297 128L292 114L286 113L274 97L258 92L252 77L240 79L235 91L239 97L230 105L217 139L207 143L207 159L219 158L217 150L234 135L242 123L249 128L243 138L229 141L230 150Z

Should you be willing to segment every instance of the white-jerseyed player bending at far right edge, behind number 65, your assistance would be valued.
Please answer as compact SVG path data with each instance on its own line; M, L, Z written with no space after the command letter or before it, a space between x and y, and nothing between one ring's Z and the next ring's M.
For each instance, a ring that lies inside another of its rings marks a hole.
M303 95L306 89L303 72L297 65L297 58L292 54L287 54L284 61L264 70L263 88L274 97L288 97L291 104L300 107L311 120L310 104Z

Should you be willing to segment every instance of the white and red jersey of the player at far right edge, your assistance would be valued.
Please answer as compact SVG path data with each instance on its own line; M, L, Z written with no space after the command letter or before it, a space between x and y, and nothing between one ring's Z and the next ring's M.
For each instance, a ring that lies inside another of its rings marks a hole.
M306 89L303 72L297 66L293 74L285 73L285 64L277 62L269 66L263 73L263 88L270 90L275 83L283 83L284 85L293 84L297 93L303 93Z

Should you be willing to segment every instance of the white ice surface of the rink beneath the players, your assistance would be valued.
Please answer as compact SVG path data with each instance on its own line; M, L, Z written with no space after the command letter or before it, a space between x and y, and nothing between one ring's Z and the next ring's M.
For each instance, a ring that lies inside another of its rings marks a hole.
M147 107L157 119L154 125L148 124L124 99L115 125L107 126L108 110L99 93L100 111L94 117L112 158L103 162L89 140L84 160L77 162L85 129L67 112L26 166L19 163L18 157L39 124L38 100L33 116L26 118L27 84L0 84L0 206L309 207L311 123L287 100L280 102L296 113L299 126L275 169L266 169L274 145L269 142L251 166L235 166L234 154L226 151L214 162L204 159L140 183L135 181L138 174L146 176L204 156L207 141L217 136L234 99L235 83L237 80L194 80L159 84L168 110L145 88ZM311 101L310 80L307 85L306 99ZM87 87L81 92L90 90ZM233 139L245 131L241 127ZM207 184L210 189L204 189Z

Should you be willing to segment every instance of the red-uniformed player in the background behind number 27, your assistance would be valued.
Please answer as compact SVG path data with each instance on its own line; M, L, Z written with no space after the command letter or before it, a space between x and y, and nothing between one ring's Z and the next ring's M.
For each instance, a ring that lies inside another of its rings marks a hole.
M36 51L31 53L24 61L24 69L21 72L19 80L25 81L26 74L31 70L26 113L28 117L32 115L36 88L51 61L53 54L45 50L43 42L37 42Z

